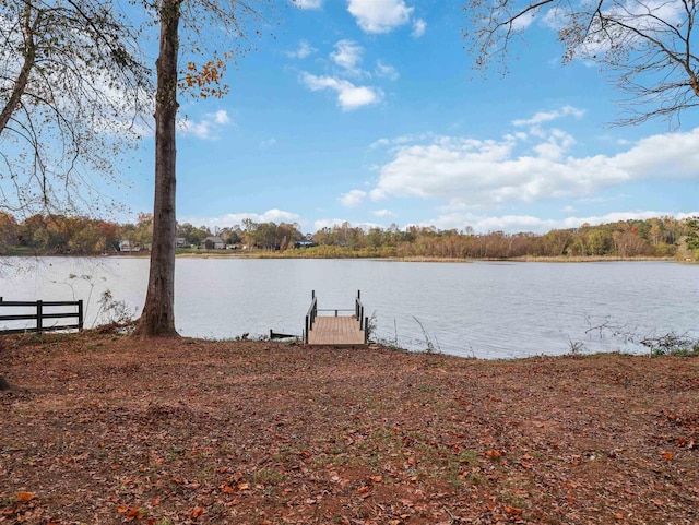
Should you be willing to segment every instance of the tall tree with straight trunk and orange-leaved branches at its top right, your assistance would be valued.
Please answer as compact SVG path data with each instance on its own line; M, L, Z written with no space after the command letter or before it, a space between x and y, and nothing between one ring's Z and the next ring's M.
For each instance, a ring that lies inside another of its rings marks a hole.
M253 3L254 2L254 3ZM175 238L176 203L176 119L178 88L208 97L221 97L227 88L222 84L223 58L238 58L250 49L246 24L263 20L261 9L272 0L162 0L156 4L159 25L159 50L155 62L155 192L153 200L153 246L149 285L143 312L134 331L137 337L174 336L175 329ZM180 25L192 39L180 41ZM206 33L208 32L208 33ZM227 35L222 41L220 35ZM260 31L254 32L261 36ZM223 53L216 46L232 46ZM183 51L201 50L211 60L198 64L192 60L178 67ZM211 53L209 53L211 51Z

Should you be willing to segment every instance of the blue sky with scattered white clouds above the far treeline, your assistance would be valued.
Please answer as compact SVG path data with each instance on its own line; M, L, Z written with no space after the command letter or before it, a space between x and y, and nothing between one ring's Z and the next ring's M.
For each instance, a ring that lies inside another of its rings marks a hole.
M180 102L178 222L545 232L699 215L699 110L613 127L623 94L561 64L545 13L507 75L474 70L467 23L458 1L277 11L226 97ZM152 136L137 155L118 195L131 219L152 210Z

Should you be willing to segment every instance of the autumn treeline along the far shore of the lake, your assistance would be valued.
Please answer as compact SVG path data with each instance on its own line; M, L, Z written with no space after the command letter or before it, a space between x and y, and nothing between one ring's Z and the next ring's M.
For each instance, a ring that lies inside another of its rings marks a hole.
M147 253L153 218L117 224L84 216L33 215L16 220L0 212L1 255L96 255ZM475 234L396 225L353 227L348 223L303 234L297 224L254 223L210 230L177 226L178 253L299 258L526 259L675 258L699 261L699 217L619 220L547 234Z

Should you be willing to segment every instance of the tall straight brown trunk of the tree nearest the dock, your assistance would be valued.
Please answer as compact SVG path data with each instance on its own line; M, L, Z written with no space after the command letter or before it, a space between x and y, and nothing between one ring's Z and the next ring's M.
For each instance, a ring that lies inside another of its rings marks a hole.
M177 55L181 0L163 0L161 48L156 61L155 199L149 289L135 336L176 336L175 330L175 190Z

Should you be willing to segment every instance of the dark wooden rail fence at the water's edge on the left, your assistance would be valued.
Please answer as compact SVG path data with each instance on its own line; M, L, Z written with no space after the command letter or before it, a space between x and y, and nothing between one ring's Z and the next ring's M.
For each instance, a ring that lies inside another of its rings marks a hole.
M55 308L73 307L74 311L69 312L56 312L45 311L46 308L54 310ZM25 326L22 329L1 329L0 334L23 334L25 332L55 332L58 330L83 330L83 301L5 301L0 297L0 309L2 308L34 308L32 313L11 313L7 315L0 315L0 322L2 321L36 321L34 326ZM1 311L1 310L0 310ZM71 320L75 322L71 324L49 324L46 321L50 320Z

